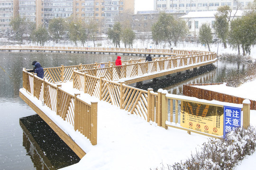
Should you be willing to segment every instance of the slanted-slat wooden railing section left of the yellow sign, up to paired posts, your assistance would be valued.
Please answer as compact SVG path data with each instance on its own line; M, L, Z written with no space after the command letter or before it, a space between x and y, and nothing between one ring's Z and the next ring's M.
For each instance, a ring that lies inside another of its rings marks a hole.
M113 82L103 77L91 76L87 72L81 73L76 70L74 70L73 77L75 77L73 88L116 105L132 114L139 115L147 121L156 120L157 123L155 118L157 118L158 95L153 93L153 89L146 91L125 85L123 82Z

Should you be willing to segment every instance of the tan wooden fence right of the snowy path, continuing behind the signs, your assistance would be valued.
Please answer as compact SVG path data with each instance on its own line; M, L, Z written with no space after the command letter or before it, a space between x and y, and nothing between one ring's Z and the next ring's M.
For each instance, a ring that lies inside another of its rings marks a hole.
M214 135L201 133L192 129L184 128L177 125L180 122L179 115L181 115L180 105L182 101L193 102L196 104L206 104L210 106L222 107L225 105L215 104L211 101L195 101L192 97L184 97L180 95L162 93L162 90L158 90L157 93L153 92L153 89L149 88L141 90L135 87L125 85L123 82L113 82L106 80L103 77L96 77L87 74L87 72L81 73L74 70L73 87L88 93L91 96L97 97L102 101L109 102L120 109L127 110L131 114L136 114L143 117L146 121L153 121L161 127L175 127L194 133L199 133L206 136L216 137ZM167 92L167 91L166 91ZM244 108L248 108L245 104ZM246 110L246 109L245 109ZM248 111L244 111L246 118L249 114ZM244 127L248 126L248 119L244 118Z

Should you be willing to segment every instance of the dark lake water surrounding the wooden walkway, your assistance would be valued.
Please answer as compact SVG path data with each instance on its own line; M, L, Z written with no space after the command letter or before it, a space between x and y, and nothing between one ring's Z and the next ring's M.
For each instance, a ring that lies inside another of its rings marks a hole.
M51 129L18 96L22 88L22 68L32 68L37 60L42 67L57 67L115 61L116 55L57 52L0 52L0 170L58 169L79 161L69 148L54 136ZM122 60L138 59L121 56ZM145 57L141 57L145 58ZM164 88L169 93L182 93L187 83L222 82L234 73L243 73L247 66L220 62L216 68L198 75L160 77L143 82L142 88ZM185 77L185 78L179 78ZM49 137L51 136L51 137Z

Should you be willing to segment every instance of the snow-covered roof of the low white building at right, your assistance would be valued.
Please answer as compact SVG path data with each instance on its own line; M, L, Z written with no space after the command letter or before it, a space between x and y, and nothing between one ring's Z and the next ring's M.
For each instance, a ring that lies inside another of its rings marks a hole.
M187 15L184 15L180 18L199 18L199 17L215 17L214 14L216 14L218 11L201 11L201 12L189 12ZM234 16L236 14L237 17L241 17L244 10L232 10L231 16Z

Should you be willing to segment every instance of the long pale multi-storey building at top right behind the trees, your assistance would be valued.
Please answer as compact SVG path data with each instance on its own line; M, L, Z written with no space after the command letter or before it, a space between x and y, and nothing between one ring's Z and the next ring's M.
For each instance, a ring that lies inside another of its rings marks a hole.
M155 10L171 9L176 12L216 11L221 6L232 10L245 9L254 0L155 0Z

